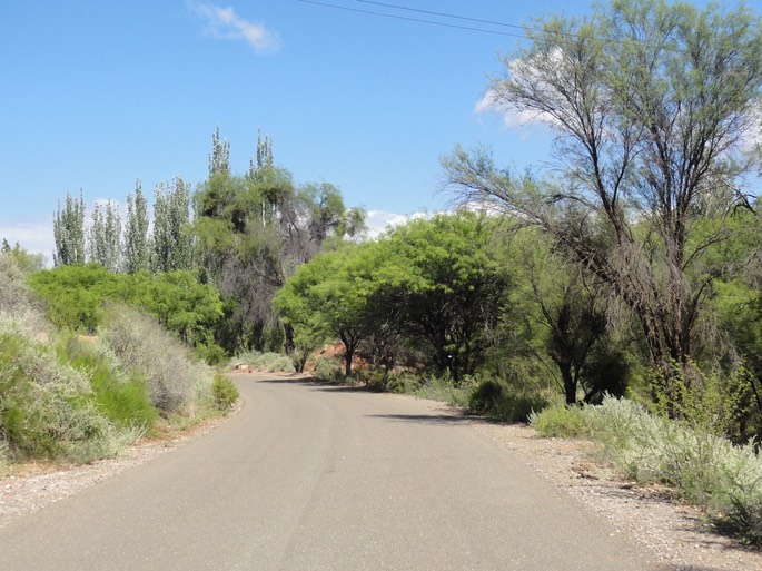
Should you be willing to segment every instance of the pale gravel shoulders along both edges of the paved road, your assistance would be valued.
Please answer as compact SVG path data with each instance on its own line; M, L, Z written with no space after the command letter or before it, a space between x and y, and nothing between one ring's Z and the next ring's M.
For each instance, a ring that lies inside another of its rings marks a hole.
M408 398L397 395L379 397ZM442 403L432 408L446 411ZM449 411L452 414L456 412ZM234 412L235 414L235 412ZM0 528L43 509L132 466L171 452L225 422L215 419L166 441L142 442L122 456L80 466L30 464L0 480ZM634 486L595 464L588 444L540 439L523 425L501 425L473 419L473 430L573 496L586 510L607 519L612 534L635 538L663 563L679 571L762 571L762 552L706 530L701 511L681 504L669 491Z

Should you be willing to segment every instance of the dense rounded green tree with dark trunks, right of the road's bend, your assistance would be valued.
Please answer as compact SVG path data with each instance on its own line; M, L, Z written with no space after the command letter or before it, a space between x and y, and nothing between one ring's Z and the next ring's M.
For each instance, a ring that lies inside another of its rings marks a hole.
M386 275L397 276L400 325L455 383L483 363L506 307L508 277L491 253L493 229L484 215L462 211L413 220L389 237Z

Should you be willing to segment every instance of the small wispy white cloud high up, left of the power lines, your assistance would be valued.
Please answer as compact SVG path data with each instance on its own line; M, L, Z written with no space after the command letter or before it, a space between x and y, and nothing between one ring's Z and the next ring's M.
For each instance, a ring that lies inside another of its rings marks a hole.
M221 40L244 40L257 53L278 51L280 40L277 33L261 23L240 18L234 8L222 8L208 2L188 1L188 8L206 20L204 33Z

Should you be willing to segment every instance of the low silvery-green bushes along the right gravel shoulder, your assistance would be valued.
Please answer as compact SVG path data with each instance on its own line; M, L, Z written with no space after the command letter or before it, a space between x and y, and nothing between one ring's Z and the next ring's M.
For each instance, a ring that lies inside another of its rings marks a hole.
M672 486L703 508L718 531L762 548L762 459L709 430L650 415L607 397L601 406L554 406L533 414L543 436L590 437L600 457L640 483Z

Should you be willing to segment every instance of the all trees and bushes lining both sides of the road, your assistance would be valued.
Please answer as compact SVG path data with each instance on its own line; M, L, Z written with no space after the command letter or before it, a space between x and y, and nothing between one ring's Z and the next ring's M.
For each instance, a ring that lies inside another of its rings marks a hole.
M211 365L308 372L592 437L762 544L762 22L616 0L547 17L485 101L544 122L546 165L442 159L455 208L364 239L261 134L244 174L219 129L196 188L67 196L55 267L0 258L0 457L112 454L227 410Z

